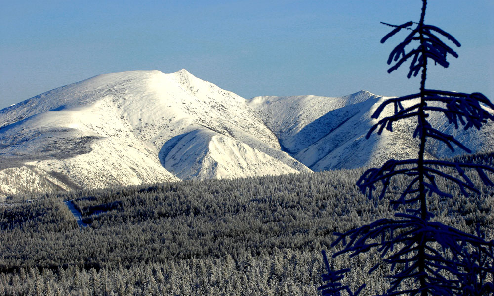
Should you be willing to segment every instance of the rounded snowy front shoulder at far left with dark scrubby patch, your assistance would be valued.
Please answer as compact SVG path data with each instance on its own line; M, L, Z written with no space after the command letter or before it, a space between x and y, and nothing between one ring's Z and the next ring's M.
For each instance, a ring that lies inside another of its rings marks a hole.
M178 180L103 99L27 117L0 129L2 158L65 176L78 187Z

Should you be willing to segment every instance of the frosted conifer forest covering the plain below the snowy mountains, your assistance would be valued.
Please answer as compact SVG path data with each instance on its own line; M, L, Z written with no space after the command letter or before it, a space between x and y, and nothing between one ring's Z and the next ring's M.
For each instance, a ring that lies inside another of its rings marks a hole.
M453 159L493 165L493 154ZM355 185L363 169L12 196L0 206L0 295L317 295L333 232L392 217ZM454 172L451 172L454 174ZM435 220L494 238L494 190L429 199ZM398 179L399 180L399 179ZM399 194L396 182L387 194ZM72 200L86 226L64 202ZM329 258L361 295L389 286L377 251Z

